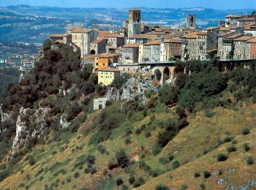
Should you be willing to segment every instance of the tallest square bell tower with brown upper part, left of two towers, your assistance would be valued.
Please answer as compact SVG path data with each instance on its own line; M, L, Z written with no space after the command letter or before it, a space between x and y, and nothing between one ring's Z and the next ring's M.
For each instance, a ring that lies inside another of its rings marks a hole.
M132 35L141 33L140 21L141 10L136 8L129 10L128 38Z

